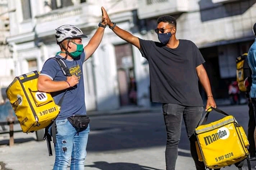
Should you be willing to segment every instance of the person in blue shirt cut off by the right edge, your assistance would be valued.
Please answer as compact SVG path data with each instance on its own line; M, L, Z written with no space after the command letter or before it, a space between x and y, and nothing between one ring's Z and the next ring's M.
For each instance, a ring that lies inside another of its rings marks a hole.
M252 31L255 36L255 41L252 43L252 45L248 51L247 61L248 61L248 65L250 66L250 68L252 70L252 76L251 76L252 77L252 85L251 85L251 90L250 90L250 98L251 98L252 105L253 105L254 116L256 116L256 23L253 25ZM256 141L255 132L254 132L254 140Z

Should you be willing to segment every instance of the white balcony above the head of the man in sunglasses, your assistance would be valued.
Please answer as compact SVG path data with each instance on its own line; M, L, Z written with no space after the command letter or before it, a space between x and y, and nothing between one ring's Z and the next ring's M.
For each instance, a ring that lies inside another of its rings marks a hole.
M140 19L188 11L188 0L138 0Z

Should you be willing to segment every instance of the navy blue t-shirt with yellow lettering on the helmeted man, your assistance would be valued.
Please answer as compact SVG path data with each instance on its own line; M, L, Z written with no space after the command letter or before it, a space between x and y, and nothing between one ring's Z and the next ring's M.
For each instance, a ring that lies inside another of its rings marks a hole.
M73 114L86 114L86 106L84 99L84 80L83 80L83 62L85 60L85 52L80 57L72 60L64 60L69 71L72 75L76 75L79 78L79 83L73 88L69 88L65 93L65 90L51 92L52 97L56 104L60 101L60 98L64 95L63 102L60 107L60 113L57 120L65 119ZM56 57L61 58L60 55ZM57 61L49 59L44 63L44 66L40 72L40 75L45 75L53 81L66 81L67 76L64 75Z

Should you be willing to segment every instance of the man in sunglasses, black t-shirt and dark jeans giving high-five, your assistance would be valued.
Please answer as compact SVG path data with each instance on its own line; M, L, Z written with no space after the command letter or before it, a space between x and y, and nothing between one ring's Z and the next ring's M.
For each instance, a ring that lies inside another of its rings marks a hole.
M197 170L205 170L204 162L198 160L195 128L204 106L198 88L198 78L207 94L207 104L216 107L201 52L189 40L175 37L176 19L165 15L157 19L155 32L160 42L142 40L111 22L106 10L109 28L120 38L136 46L148 60L150 72L151 100L163 104L167 132L165 150L166 170L174 170L178 156L182 118L191 144L191 155ZM205 108L205 109L207 109Z

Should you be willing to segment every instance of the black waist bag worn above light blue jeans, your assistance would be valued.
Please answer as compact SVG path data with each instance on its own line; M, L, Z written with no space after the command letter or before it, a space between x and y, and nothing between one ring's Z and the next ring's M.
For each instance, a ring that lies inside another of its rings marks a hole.
M87 115L73 115L68 118L68 121L76 128L87 128L90 119Z

